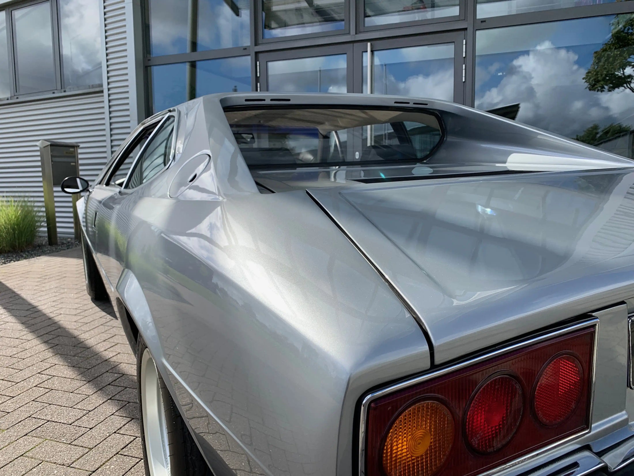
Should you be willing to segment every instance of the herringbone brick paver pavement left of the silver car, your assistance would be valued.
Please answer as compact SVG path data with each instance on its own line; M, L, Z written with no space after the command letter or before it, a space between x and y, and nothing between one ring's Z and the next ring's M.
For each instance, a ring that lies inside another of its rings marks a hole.
M136 364L81 249L0 266L0 475L143 475Z

